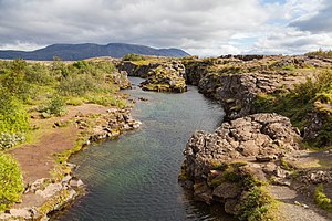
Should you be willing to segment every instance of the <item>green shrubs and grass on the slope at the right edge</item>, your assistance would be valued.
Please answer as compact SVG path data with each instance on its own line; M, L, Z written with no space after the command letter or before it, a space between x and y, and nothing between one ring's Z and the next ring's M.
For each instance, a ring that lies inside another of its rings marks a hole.
M301 131L310 125L311 114L320 113L323 117L322 128L312 140L312 146L329 146L332 140L332 72L324 71L308 78L294 90L286 93L259 94L255 101L257 112L278 113L291 119Z

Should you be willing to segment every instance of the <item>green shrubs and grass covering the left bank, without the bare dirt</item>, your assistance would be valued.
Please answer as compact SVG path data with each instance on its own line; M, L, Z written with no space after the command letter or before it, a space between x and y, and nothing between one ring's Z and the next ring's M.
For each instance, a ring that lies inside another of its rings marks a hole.
M51 134L53 120L48 119L65 116L70 106L126 107L126 97L118 91L128 86L126 76L107 61L0 61L0 211L18 202L23 192L21 168L8 150ZM85 137L81 134L71 150L59 155L59 161L80 149Z

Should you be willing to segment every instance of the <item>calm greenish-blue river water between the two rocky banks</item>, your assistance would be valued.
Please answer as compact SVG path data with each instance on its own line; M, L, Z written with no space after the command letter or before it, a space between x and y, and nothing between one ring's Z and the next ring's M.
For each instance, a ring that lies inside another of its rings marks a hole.
M138 83L139 78L131 78ZM139 130L74 156L89 192L55 220L232 220L220 206L194 202L177 182L183 149L197 129L214 130L222 108L196 87L184 94L127 91Z

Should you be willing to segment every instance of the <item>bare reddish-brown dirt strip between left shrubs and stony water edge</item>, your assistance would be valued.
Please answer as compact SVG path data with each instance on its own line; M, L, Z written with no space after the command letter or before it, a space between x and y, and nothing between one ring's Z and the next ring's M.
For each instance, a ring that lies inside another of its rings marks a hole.
M9 152L13 155L23 173L24 183L33 183L41 178L52 178L52 171L56 166L55 154L71 149L80 136L80 130L75 125L53 128L53 124L59 120L68 120L77 114L104 114L108 108L94 104L71 106L63 117L52 117L49 119L31 119L32 125L40 127L38 141L17 147ZM28 192L22 196L22 202L14 206L15 209L40 207L45 199L39 194Z

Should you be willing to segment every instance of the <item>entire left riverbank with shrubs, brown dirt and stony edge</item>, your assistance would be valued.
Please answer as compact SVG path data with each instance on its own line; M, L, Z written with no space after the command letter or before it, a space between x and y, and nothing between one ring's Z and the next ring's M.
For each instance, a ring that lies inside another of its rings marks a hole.
M0 74L1 160L18 161L1 162L0 218L42 219L84 190L66 162L71 155L139 127L118 93L132 85L108 59L0 61Z

